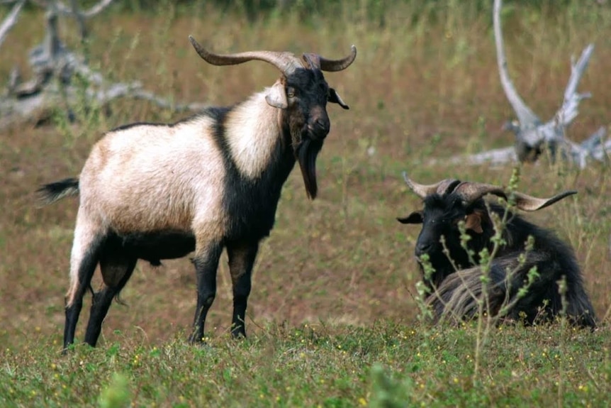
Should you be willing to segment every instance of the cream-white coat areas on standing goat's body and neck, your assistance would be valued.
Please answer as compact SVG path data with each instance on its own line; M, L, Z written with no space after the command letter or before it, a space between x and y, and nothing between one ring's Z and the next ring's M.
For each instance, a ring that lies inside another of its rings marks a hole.
M223 123L230 158L249 180L269 167L281 143L281 111L267 104L265 94L234 106ZM181 231L198 243L223 238L232 214L223 207L227 174L216 124L206 114L174 125L135 124L106 133L94 145L79 177L68 303L84 249L109 230Z

